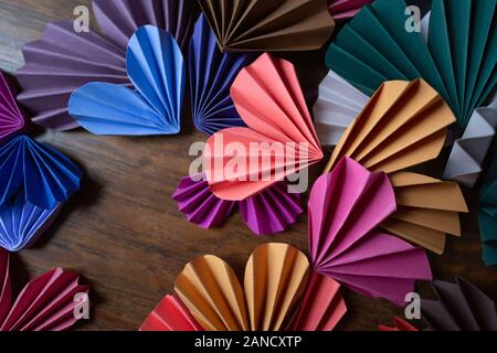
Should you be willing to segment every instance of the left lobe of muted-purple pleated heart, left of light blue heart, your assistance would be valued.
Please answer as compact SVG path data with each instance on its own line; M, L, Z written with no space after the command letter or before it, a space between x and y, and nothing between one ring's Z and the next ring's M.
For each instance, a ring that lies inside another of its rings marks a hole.
M89 82L129 85L125 52L95 32L75 33L72 22L49 23L40 41L23 47L15 76L18 99L32 121L49 129L78 127L67 113L71 94Z

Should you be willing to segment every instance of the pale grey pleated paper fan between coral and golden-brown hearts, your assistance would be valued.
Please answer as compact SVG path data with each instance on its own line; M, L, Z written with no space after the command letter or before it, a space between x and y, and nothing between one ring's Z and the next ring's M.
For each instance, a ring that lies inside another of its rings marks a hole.
M314 125L324 146L336 146L369 97L330 71L319 85Z

